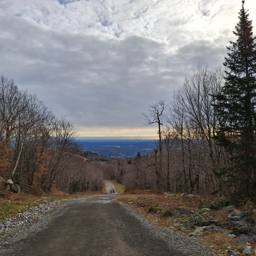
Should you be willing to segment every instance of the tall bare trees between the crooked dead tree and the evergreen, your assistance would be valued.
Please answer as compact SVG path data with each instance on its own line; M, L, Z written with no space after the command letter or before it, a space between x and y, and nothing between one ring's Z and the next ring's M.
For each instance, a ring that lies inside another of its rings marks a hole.
M199 65L174 95L169 123L180 137L184 180L189 182L190 192L195 191L196 184L199 187L200 180L207 183L206 189L219 189L214 173L222 164L222 151L213 139L218 126L213 95L221 85L220 70L211 72ZM188 185L186 187L188 191Z

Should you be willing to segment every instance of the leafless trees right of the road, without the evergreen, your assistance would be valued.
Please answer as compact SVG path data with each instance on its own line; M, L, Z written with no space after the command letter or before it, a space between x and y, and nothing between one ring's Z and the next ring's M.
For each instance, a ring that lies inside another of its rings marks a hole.
M145 115L158 125L152 154L139 153L123 165L126 186L154 191L230 193L233 186L217 173L228 166L228 155L213 138L219 125L213 95L220 92L223 73L198 66L175 93L171 104L159 101ZM233 182L232 180L230 182ZM234 184L232 184L234 185Z

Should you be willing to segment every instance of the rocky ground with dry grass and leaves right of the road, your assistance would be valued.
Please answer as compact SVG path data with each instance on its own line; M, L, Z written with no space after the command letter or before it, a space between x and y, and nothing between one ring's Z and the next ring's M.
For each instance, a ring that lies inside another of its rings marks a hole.
M207 246L217 256L256 255L256 205L197 195L121 195L118 200L160 227Z

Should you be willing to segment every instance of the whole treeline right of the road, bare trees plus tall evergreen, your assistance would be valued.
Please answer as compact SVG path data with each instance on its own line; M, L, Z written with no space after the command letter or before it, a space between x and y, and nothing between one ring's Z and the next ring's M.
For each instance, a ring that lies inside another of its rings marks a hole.
M158 101L144 114L158 125L158 146L123 164L127 186L256 196L256 37L248 15L242 1L225 72L199 65L171 104Z

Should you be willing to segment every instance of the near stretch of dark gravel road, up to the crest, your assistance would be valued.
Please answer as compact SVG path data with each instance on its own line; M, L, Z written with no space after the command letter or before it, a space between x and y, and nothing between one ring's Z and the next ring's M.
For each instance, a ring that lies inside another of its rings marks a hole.
M97 195L67 201L0 245L5 256L211 256L198 244L152 225Z

